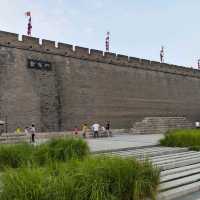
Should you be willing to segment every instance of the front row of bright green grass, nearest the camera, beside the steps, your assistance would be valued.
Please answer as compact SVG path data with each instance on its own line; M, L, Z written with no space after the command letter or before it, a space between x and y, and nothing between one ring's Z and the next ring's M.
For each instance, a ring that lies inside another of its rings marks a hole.
M156 199L159 170L148 162L87 157L51 167L8 170L1 200Z

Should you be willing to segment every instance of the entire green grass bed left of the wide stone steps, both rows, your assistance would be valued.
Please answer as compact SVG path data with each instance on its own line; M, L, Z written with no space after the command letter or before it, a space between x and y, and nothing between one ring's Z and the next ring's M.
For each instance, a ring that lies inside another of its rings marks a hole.
M151 163L91 155L82 139L3 146L0 160L1 200L156 199L159 170Z

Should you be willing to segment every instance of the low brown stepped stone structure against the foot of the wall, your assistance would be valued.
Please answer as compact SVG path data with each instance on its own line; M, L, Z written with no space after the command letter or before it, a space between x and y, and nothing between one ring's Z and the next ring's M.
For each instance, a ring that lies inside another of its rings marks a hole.
M185 117L145 117L133 124L132 134L164 134L168 130L194 128L194 124Z

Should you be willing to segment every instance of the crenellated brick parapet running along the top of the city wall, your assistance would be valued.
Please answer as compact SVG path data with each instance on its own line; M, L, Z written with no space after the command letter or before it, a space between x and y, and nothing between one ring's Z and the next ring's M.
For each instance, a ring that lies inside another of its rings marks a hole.
M115 54L111 52L103 52L95 49L88 49L70 44L58 43L55 41L39 38L22 36L19 40L19 35L0 31L0 45L12 48L20 48L30 51L38 51L48 54L56 54L61 56L73 57L78 59L86 59L96 62L108 63L119 66L127 66L140 68L150 71L158 71L164 73L178 74L183 76L194 76L200 78L200 71L183 66L176 66L167 63L160 63L146 59L129 57L126 55Z

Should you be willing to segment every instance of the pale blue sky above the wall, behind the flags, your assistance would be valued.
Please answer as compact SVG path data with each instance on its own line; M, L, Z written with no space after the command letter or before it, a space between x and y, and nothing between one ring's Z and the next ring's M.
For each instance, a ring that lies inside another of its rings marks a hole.
M200 58L200 0L0 0L0 30L197 68Z

